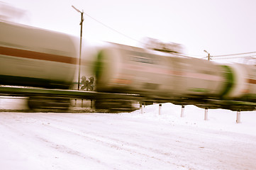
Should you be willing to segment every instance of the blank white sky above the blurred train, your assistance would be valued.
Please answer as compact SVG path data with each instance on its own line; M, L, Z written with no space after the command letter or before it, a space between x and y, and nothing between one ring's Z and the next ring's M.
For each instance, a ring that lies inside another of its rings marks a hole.
M26 10L19 23L79 36L84 10L101 23L138 41L145 37L177 42L187 55L229 55L255 52L254 0L2 0ZM83 37L138 46L84 15Z

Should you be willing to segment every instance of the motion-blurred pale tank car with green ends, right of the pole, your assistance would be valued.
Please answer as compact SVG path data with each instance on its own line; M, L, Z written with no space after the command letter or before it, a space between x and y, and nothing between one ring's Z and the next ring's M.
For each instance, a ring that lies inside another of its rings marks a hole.
M99 50L94 70L96 91L200 98L220 97L227 87L225 68L218 64L127 45Z

